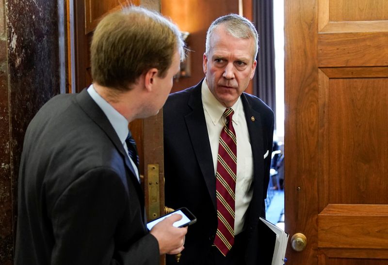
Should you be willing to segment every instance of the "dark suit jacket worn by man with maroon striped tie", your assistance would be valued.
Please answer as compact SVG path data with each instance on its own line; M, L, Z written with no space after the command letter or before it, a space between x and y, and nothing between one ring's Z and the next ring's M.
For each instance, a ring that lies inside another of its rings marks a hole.
M217 229L215 176L201 85L202 81L171 94L163 108L165 203L174 209L185 206L197 217L197 222L188 229L179 265L205 264L204 257ZM274 113L255 96L244 93L241 100L254 160L253 197L244 224L247 242L244 258L253 265L258 264L259 244L265 240L260 238L258 223L259 217L265 216ZM269 154L263 159L267 150ZM168 264L174 264L171 257Z

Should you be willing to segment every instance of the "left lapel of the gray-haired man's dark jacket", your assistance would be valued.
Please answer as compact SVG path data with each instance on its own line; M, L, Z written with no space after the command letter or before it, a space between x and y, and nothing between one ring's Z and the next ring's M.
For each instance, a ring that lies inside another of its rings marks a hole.
M193 110L185 116L190 139L199 167L204 176L214 209L216 209L215 174L209 142L208 128L203 112L200 82L191 93L188 105Z

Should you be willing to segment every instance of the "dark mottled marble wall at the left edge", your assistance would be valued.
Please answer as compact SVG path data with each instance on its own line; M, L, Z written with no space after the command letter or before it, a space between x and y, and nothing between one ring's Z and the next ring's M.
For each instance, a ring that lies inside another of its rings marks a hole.
M25 130L59 93L57 0L0 0L0 264L13 264Z

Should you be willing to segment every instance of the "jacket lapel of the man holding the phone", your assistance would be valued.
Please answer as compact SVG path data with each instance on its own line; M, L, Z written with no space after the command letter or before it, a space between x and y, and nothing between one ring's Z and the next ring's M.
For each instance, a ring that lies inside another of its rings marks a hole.
M87 93L87 90L84 89L80 94L77 95L77 101L81 107L81 109L107 134L109 139L112 141L113 145L116 147L119 153L124 158L125 165L127 167L127 171L129 172L130 180L127 180L127 192L128 192L128 181L133 183L133 186L136 188L136 191L139 196L139 200L142 203L142 207L144 207L144 195L143 190L140 186L140 183L133 172L133 168L130 165L129 158L126 155L125 149L120 142L120 139L117 136L116 131L113 129L113 126L109 122L108 118L105 116L105 113L98 107L96 102L90 97Z

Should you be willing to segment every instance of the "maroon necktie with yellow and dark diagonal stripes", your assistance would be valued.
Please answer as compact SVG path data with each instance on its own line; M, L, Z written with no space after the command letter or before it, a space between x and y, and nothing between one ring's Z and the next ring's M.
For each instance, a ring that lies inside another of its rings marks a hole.
M234 210L237 172L237 141L233 128L233 109L226 109L226 124L221 131L218 147L216 198L218 228L214 245L226 256L234 244Z

